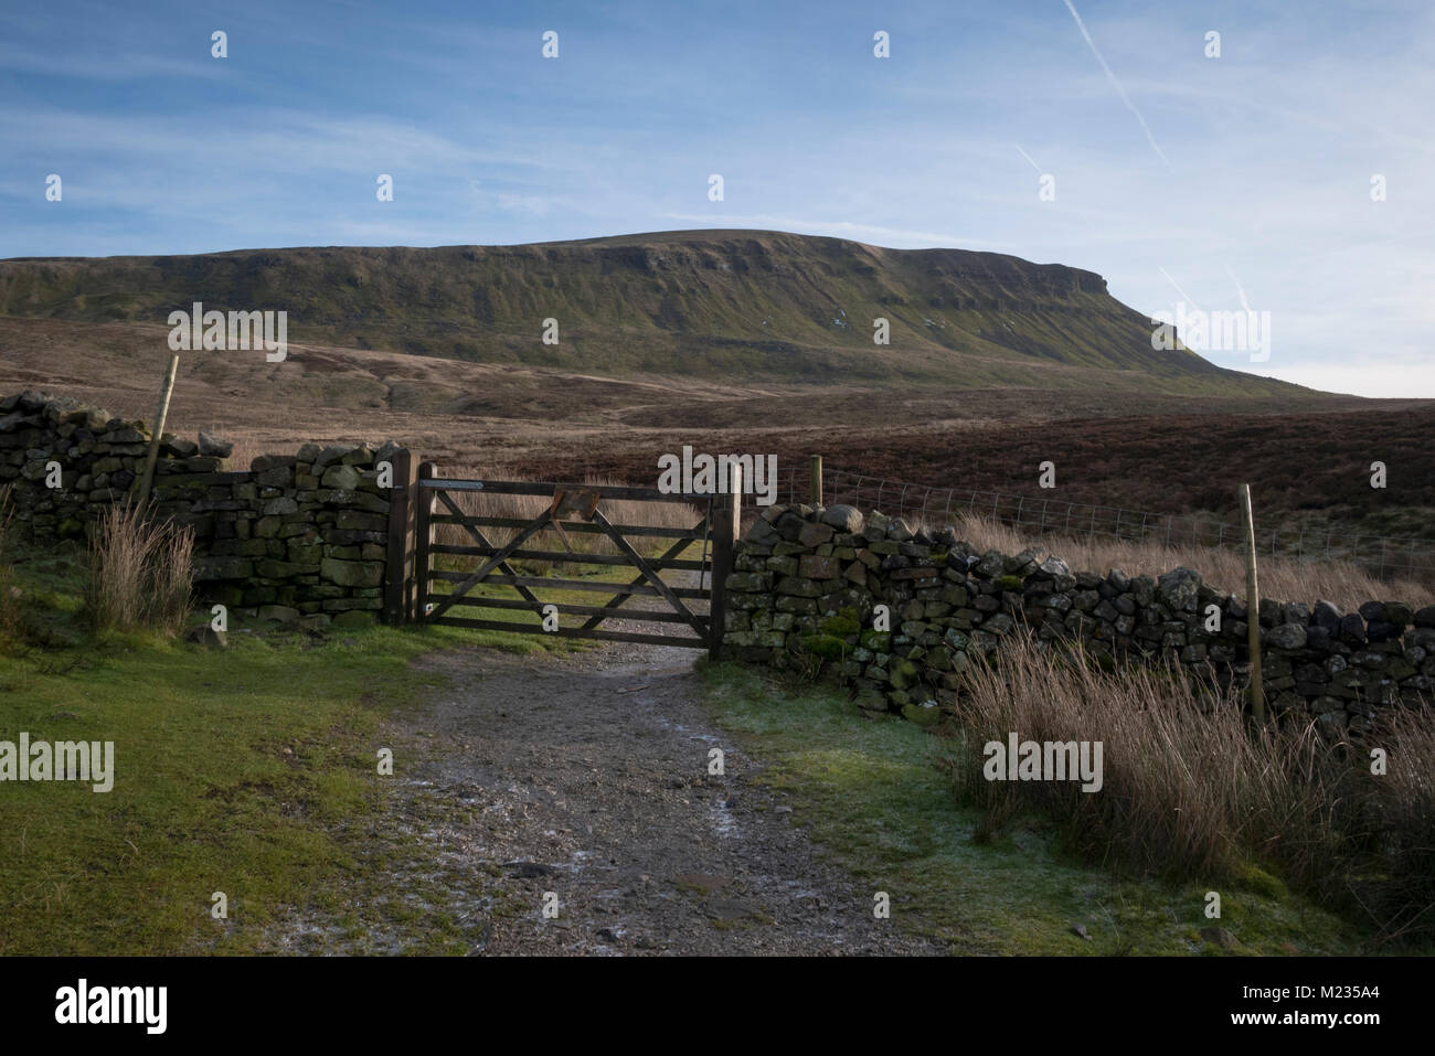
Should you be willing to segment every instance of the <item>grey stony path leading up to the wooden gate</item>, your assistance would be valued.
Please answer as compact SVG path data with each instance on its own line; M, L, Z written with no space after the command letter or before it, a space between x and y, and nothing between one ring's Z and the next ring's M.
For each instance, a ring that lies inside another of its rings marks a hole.
M465 875L498 885L469 907L474 951L941 953L875 920L872 892L822 858L781 793L751 782L761 763L709 725L695 656L621 644L422 661L451 683L395 723L423 759L396 809L432 851L432 868L408 868L441 871L459 900ZM713 746L726 776L707 773Z

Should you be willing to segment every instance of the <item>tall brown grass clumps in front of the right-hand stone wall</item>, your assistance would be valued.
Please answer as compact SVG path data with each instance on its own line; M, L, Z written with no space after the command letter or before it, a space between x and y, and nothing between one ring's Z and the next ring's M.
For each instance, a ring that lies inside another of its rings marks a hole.
M1435 933L1428 712L1382 717L1372 743L1391 769L1376 776L1363 749L1329 745L1310 723L1250 732L1231 692L1192 687L1168 669L1114 677L1027 641L969 671L956 722L964 746L950 760L954 789L987 812L986 831L1045 815L1092 861L1213 884L1270 868L1366 914L1382 937ZM1009 733L1101 742L1101 791L987 781L982 749L1004 750Z

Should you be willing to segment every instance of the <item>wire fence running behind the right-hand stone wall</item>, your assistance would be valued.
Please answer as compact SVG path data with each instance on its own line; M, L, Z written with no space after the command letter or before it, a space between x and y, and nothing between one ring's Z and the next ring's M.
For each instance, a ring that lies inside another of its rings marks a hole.
M1157 514L1121 506L1098 506L1030 495L933 488L822 466L821 496L825 505L845 502L860 509L880 509L890 517L920 518L933 527L960 517L983 518L1027 535L1111 538L1167 547L1218 547L1244 550L1246 531L1238 524L1194 514ZM808 466L778 471L778 502L812 502ZM1257 529L1256 550L1270 557L1306 561L1349 561L1378 577L1405 575L1435 581L1435 539L1393 538L1339 532L1335 525Z

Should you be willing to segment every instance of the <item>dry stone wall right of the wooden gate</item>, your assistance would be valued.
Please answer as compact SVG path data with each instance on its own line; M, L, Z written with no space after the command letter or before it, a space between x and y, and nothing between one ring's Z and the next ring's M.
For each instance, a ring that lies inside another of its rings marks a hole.
M852 506L773 505L739 539L725 646L739 660L817 667L872 706L926 720L961 673L1015 634L1073 643L1098 657L1174 657L1218 682L1248 680L1243 598L1188 568L1159 578L1078 572L1042 551L977 552L950 529ZM874 630L878 604L890 630ZM1214 610L1211 607L1215 607ZM1220 616L1218 630L1208 630ZM1370 601L1343 613L1261 601L1261 674L1277 713L1359 736L1376 709L1435 700L1435 605Z

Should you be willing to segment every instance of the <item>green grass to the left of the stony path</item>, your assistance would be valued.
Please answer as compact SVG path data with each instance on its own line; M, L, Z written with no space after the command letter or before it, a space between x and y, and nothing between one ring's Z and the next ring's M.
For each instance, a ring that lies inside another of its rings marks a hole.
M0 783L0 956L353 948L385 930L403 935L386 951L469 951L446 892L390 871L422 836L392 825L385 719L436 687L410 666L422 653L565 643L448 627L245 633L232 620L225 650L93 636L83 562L13 567L0 740L113 742L113 791ZM225 920L211 915L218 891ZM349 933L304 934L310 910Z

